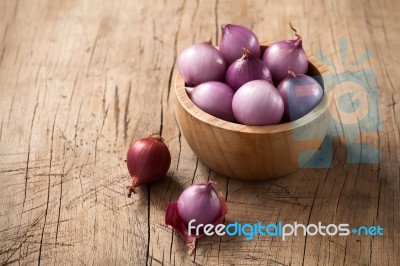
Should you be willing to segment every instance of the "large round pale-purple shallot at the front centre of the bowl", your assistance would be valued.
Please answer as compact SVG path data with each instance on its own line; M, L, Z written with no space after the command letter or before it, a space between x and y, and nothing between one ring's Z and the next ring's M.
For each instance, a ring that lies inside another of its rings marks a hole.
M236 120L244 125L275 125L283 115L283 100L270 82L253 80L236 91L232 109Z

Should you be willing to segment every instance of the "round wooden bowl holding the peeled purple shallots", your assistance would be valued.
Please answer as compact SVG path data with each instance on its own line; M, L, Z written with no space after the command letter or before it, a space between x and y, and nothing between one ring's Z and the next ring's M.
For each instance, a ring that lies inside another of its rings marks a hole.
M263 52L268 44L261 45ZM328 68L311 55L308 62L307 74L318 77L323 86L322 75ZM236 179L271 179L296 171L321 146L329 119L326 91L315 109L294 122L246 126L218 119L194 105L178 74L175 115L189 146L209 168Z

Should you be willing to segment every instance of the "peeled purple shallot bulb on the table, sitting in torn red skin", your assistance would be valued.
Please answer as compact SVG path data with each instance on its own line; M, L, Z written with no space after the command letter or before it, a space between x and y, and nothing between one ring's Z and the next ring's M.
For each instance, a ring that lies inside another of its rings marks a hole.
M186 223L213 224L221 214L221 202L211 182L186 188L178 199L178 212Z

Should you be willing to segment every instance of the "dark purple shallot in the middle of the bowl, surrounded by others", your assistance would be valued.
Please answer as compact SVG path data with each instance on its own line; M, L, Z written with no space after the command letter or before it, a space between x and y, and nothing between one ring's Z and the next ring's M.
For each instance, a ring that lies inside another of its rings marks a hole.
M225 82L237 91L245 83L257 79L271 80L271 72L264 61L243 49L242 57L228 67Z

